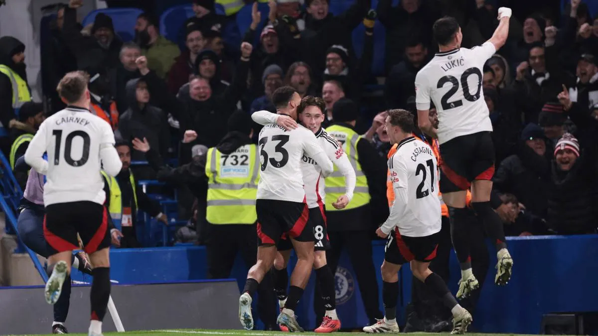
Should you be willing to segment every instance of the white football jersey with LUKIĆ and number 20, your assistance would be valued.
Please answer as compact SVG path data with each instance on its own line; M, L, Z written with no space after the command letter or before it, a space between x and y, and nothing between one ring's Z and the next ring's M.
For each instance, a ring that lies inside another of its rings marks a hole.
M484 63L496 52L491 42L479 47L438 53L417 72L416 105L419 110L434 102L438 112L438 142L457 136L492 131L484 100Z

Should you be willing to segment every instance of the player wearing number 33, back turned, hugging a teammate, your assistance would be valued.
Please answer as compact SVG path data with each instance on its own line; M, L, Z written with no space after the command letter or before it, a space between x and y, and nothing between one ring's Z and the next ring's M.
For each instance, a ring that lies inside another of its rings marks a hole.
M278 114L297 119L301 97L292 87L280 87L272 94ZM286 130L277 124L264 126L259 136L261 175L255 211L258 216L257 263L247 274L243 294L239 298L239 320L245 329L254 327L251 315L252 295L276 258L276 245L285 235L297 253L297 265L291 274L291 286L285 307L277 322L289 331L303 331L295 319L295 308L307 285L313 266L313 227L308 222L309 207L303 188L301 160L313 158L322 175L334 170L313 132L303 126Z

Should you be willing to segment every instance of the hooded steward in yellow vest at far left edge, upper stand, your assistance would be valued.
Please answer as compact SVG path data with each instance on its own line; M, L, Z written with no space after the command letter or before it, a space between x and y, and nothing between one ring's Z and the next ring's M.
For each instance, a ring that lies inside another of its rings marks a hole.
M25 71L25 44L12 36L0 38L0 106L2 111L0 136L8 136L9 122L16 119L19 109L31 100Z

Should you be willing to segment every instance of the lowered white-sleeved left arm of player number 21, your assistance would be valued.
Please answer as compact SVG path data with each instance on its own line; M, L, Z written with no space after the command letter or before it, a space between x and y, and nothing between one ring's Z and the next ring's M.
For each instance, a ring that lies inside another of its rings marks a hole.
M386 222L380 227L380 230L387 236L403 217L405 209L407 209L408 201L407 166L405 166L405 163L403 163L400 158L395 158L395 156L396 155L388 160L390 181L392 182L392 188L395 191L395 201L390 208L388 219L386 219Z

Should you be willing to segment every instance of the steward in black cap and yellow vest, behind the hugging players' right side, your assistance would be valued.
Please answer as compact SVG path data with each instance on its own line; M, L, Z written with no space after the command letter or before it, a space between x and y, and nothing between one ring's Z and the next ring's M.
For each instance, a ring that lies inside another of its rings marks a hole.
M377 298L378 286L376 268L371 258L371 240L377 224L388 217L386 160L355 130L358 118L359 108L356 103L341 98L332 106L332 125L326 129L328 136L343 146L356 176L353 198L342 210L334 209L329 204L337 200L337 191L344 188L343 176L334 167L334 172L325 179L327 229L331 245L331 253L327 255L328 264L335 267L343 248L347 250L355 276L360 279L360 283L367 284L361 287L364 290L361 297L368 318L373 320L383 316ZM376 219L379 217L378 222Z

